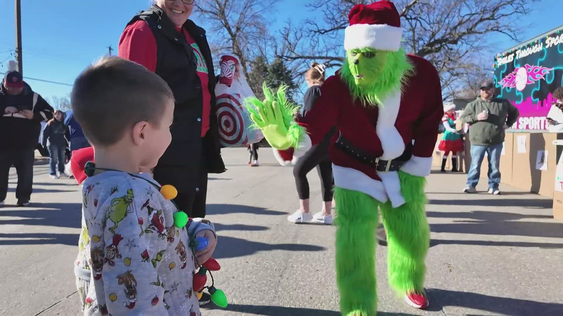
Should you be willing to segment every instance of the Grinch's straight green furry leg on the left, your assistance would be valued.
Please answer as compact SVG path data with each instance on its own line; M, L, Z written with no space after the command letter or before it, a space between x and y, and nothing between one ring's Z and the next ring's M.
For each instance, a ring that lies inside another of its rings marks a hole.
M345 316L377 313L376 245L379 202L365 193L336 187L336 279Z

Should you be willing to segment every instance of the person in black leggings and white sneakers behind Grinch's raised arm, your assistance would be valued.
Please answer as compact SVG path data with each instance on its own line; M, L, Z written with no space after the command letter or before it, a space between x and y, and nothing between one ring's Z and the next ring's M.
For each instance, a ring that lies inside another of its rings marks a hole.
M305 73L305 79L309 84L309 89L305 93L304 105L301 109L301 116L306 116L307 112L315 105L316 99L320 96L320 85L324 82L324 67L313 63L311 68ZM316 105L322 106L322 105ZM312 146L293 167L297 194L300 200L300 209L288 216L288 220L293 223L318 222L332 224L332 208L334 179L332 177L332 162L328 155L328 145L330 137L334 134L334 129L325 135L323 141L318 145ZM317 168L321 180L321 191L323 193L323 209L311 215L309 211L309 182L307 173L313 168Z

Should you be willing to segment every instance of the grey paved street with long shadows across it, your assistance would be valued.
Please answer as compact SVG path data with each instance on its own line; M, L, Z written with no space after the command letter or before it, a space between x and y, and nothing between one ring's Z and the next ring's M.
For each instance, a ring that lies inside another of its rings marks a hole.
M335 228L287 222L298 207L293 175L270 148L260 149L258 168L247 166L245 148L223 153L229 170L210 175L207 218L220 236L216 284L230 305L203 315L338 316ZM552 219L551 200L506 186L501 196L465 195L464 178L428 178L430 310L410 308L391 292L386 248L378 246L378 315L563 315L563 223ZM309 179L316 211L316 171ZM77 315L79 187L49 179L47 165L35 166L34 180L33 205L16 208L14 172L0 209L0 314Z

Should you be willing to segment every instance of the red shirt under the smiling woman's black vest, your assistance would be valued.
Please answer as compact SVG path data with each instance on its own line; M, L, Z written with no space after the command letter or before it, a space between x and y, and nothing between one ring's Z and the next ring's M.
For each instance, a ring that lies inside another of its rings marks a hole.
M177 28L180 31L180 28ZM203 55L186 29L184 36L190 44L194 56L197 60L196 71L202 83L203 92L203 111L202 111L202 137L209 130L209 114L211 113L211 93L209 93L209 70ZM137 21L129 26L121 34L118 47L119 57L125 58L143 65L150 71L157 70L157 40L154 38L153 31L145 21Z

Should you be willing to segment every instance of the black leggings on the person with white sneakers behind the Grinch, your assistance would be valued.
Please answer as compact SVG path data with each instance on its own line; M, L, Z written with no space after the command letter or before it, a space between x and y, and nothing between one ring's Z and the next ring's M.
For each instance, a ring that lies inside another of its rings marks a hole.
M309 151L303 155L293 167L293 175L295 177L295 185L300 200L309 198L309 182L307 181L307 173L313 168L317 168L321 182L321 192L323 193L323 201L332 201L334 179L332 177L332 162L328 156L327 147L323 145L312 146Z

